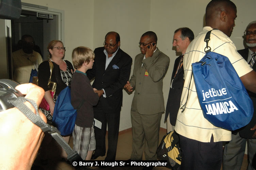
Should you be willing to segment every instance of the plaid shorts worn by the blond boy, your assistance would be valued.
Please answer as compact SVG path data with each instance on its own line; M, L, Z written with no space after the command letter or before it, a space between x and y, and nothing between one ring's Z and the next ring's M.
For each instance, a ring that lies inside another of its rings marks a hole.
M73 150L85 160L88 151L96 149L96 142L94 136L94 127L83 128L75 124L73 131Z

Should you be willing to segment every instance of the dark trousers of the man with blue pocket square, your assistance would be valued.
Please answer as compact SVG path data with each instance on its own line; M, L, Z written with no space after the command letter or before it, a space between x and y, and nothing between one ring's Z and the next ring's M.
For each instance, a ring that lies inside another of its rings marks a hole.
M97 156L103 156L106 153L106 131L108 124L108 152L105 160L115 160L116 147L119 132L120 111L115 113L106 113L101 106L94 107L94 118L99 120L101 129L94 127Z

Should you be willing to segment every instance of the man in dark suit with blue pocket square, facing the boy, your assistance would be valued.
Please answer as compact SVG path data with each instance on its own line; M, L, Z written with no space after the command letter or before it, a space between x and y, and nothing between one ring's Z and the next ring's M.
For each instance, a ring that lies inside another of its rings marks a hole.
M109 32L105 36L104 47L94 50L95 59L91 70L86 72L91 80L95 77L93 88L100 97L94 107L94 118L100 121L95 126L96 150L92 159L106 153L105 136L108 124L108 152L105 160L115 160L119 132L120 112L123 101L123 87L129 80L132 58L121 50L120 36Z

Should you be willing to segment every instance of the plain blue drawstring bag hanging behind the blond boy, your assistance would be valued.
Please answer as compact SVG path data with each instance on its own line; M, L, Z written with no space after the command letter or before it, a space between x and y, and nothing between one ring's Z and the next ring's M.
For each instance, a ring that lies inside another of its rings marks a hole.
M76 109L71 105L71 89L64 88L58 95L52 116L52 124L62 136L73 132L77 118Z

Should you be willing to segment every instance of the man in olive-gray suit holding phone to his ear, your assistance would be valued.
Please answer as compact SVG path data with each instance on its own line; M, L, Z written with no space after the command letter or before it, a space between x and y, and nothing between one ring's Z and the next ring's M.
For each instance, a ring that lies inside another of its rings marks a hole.
M135 57L133 74L124 86L127 91L134 91L131 160L141 160L144 149L146 160L156 160L164 112L163 78L170 58L156 47L157 35L152 31L144 33L139 44L141 53Z

